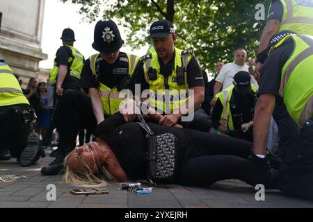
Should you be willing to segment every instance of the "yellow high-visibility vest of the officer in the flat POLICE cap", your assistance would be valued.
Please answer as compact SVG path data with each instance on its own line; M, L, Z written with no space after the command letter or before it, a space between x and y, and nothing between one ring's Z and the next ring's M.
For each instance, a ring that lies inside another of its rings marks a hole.
M150 106L163 113L172 113L188 101L187 65L193 55L193 50L183 51L175 48L175 69L172 75L164 77L161 74L157 52L147 54L141 58L145 80L150 87ZM157 80L150 80L148 71L152 67L157 71ZM177 84L177 67L184 68L184 84ZM168 94L166 94L168 89Z

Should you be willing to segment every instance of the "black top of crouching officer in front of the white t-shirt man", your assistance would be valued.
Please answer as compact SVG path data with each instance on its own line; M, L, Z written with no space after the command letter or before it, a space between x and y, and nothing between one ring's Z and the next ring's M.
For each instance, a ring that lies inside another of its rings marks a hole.
M230 103L234 105L230 105L230 110L232 121L234 123L234 130L241 130L241 124L252 121L256 102L255 94L251 94L248 97L241 97L236 90L233 90ZM223 105L220 99L218 99L211 115L212 126L215 129L218 129L218 126L220 126L220 115L222 112Z

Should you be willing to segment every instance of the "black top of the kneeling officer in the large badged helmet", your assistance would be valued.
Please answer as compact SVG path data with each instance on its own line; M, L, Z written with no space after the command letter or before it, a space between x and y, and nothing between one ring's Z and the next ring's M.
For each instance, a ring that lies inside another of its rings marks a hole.
M100 60L98 63L99 82L110 88L113 88L122 83L122 80L127 76L129 72L129 63L125 62L125 58L127 59L126 53L120 52L118 59L113 64L109 64L105 60ZM90 68L89 59L86 60L85 65L83 66L82 86L87 93L88 89L98 87L97 79L95 78L95 76L93 76L93 72Z

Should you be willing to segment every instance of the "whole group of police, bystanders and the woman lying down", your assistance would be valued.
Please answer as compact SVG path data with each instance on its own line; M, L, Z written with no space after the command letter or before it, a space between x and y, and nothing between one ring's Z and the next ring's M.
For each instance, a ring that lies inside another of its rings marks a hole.
M167 134L177 156L171 182L207 187L234 178L313 200L313 9L281 0L270 12L257 59L247 62L246 50L234 49L234 61L216 62L210 82L194 51L176 47L168 20L150 26L153 46L141 57L120 51L124 41L111 19L95 25L92 46L99 53L87 59L65 28L47 83L52 94L35 79L23 93L0 63L0 119L8 124L1 127L1 151L22 166L34 164L43 156L40 135L49 144L56 128L58 152L42 175L103 185L147 179L148 135ZM12 146L18 127L25 130ZM89 139L77 146L85 131Z

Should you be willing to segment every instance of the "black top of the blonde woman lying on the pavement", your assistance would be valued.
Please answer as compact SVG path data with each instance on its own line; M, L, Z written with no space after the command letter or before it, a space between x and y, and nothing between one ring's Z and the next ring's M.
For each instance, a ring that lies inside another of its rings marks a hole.
M177 129L161 126L157 123L147 123L155 135L172 133L178 141L178 166L182 166L192 150L191 141L200 132L189 129ZM104 139L118 158L118 162L131 180L145 178L145 130L138 123L125 123L121 114L109 117L97 126L95 135ZM179 173L179 172L177 172Z

